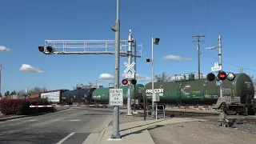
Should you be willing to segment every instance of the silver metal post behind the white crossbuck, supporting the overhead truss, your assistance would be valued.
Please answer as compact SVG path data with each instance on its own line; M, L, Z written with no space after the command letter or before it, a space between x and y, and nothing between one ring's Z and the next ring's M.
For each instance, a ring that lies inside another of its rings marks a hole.
M129 34L129 37L128 37L128 64L130 65L131 64L131 57L132 57L132 51L131 51L131 48L132 48L132 43L133 43L133 38L132 38L132 35L131 35L131 30L130 30L130 34ZM128 81L128 95L129 97L127 98L127 115L132 115L131 114L131 106L130 106L130 96L131 96L131 79L129 78L129 81Z

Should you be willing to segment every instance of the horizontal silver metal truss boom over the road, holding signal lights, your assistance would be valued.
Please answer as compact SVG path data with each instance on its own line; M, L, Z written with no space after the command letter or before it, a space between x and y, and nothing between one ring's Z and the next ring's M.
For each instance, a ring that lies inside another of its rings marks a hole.
M45 51L44 54L114 54L114 40L45 40L45 46L52 46L54 52ZM142 57L142 45L137 46L136 55ZM127 57L128 40L120 40L120 56Z

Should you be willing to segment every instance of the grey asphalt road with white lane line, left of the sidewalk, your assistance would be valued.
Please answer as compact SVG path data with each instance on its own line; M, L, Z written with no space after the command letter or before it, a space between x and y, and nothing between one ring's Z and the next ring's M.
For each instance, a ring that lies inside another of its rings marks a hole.
M79 144L108 126L112 114L110 109L72 108L0 122L0 144Z

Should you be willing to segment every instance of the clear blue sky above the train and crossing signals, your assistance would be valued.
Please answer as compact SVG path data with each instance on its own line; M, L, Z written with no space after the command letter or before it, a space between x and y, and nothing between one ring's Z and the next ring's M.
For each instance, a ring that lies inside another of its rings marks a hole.
M256 53L256 2L218 0L215 5L214 2L198 0L196 10L197 0L121 0L121 39L126 40L131 29L133 38L143 46L143 57L137 60L138 74L151 75L151 66L145 58L151 57L152 36L161 38L160 45L155 46L155 74L197 72L197 43L192 43L192 34L206 35L202 38L206 42L201 45L203 74L209 73L214 62L218 62L214 59L218 58L218 50L205 50L205 47L217 46L219 34L223 69L238 73L237 66L242 66L251 69L244 72L255 74L252 60ZM45 55L38 51L38 46L46 39L114 39L110 27L116 19L115 0L8 0L1 3L0 19L0 46L10 48L9 52L0 52L2 93L26 89L26 86L72 89L78 81L95 82L100 74L114 74L114 55ZM169 54L192 60L162 59ZM121 65L126 61L127 58L121 58ZM44 73L20 71L22 64ZM107 86L108 82L99 83Z

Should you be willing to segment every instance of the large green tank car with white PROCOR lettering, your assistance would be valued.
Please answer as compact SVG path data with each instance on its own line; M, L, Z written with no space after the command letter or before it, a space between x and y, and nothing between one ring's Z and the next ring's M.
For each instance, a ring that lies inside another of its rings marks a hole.
M224 80L222 83L223 96L231 97L228 105L233 114L255 114L254 85L247 74L235 74L233 81ZM151 82L142 91L143 97L152 102ZM159 104L163 105L213 105L218 101L219 86L216 80L206 78L194 79L194 74L175 82L154 82L154 93L159 95Z

